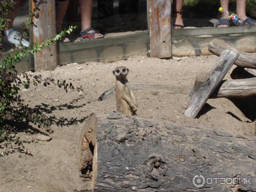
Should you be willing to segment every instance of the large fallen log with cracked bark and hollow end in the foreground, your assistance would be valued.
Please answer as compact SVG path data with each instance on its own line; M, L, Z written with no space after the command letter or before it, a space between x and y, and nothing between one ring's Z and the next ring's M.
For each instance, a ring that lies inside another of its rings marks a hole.
M91 145L93 192L256 191L255 137L111 113L93 114L81 138ZM250 177L251 184L213 180L198 188L198 174Z

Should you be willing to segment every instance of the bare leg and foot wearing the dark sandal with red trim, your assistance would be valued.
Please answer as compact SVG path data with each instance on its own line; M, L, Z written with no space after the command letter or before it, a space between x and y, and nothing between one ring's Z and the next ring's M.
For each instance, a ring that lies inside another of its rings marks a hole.
M91 27L91 19L93 12L93 0L80 0L80 12L81 12L81 30L82 32ZM93 30L88 33L93 33ZM96 33L95 37L102 36L100 33Z

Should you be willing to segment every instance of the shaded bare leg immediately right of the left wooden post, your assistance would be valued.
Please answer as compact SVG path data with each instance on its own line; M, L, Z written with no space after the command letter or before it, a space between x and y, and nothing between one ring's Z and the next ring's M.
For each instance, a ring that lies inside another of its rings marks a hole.
M57 6L56 6L56 32L57 33L61 32L62 23L64 20L64 16L67 13L67 7L69 2L70 0L57 1Z

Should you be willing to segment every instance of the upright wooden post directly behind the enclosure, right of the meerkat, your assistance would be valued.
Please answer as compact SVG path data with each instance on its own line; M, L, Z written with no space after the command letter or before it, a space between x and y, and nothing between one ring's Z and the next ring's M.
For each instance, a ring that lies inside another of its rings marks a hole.
M171 0L148 0L150 56L172 57Z

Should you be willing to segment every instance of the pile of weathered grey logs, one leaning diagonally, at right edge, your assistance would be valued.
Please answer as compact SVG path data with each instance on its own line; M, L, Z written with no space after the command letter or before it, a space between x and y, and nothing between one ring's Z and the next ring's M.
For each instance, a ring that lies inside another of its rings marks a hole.
M184 113L191 118L196 118L209 97L248 97L256 95L255 53L240 51L220 39L214 39L210 42L209 51L220 57L209 74L200 74L196 77L194 87L189 93L191 99L189 107ZM222 79L233 64L238 66L237 71L244 70L250 76L241 79L239 74L242 72L240 72L233 75L234 80L223 82Z

